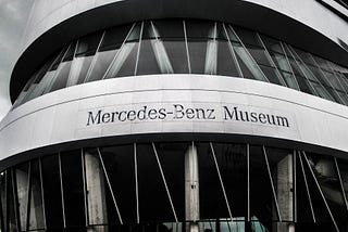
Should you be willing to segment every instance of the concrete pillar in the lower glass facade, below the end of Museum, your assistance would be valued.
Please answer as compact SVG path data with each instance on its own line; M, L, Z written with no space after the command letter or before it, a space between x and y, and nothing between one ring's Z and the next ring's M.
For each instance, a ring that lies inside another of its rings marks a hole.
M294 168L293 155L285 156L276 165L275 173L276 180L276 197L279 206L279 214L282 220L294 221ZM274 214L276 209L274 208ZM276 232L295 232L293 222L276 223Z

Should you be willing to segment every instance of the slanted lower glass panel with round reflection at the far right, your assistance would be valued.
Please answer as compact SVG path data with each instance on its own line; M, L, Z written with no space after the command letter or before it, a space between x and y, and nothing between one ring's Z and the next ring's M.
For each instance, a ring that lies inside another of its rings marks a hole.
M308 157L337 224L345 224L348 217L333 157L316 154L308 154Z

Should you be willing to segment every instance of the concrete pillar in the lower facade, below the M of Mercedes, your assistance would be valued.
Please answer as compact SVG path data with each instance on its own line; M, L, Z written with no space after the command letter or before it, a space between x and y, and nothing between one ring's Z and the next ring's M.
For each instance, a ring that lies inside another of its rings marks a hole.
M89 224L107 224L104 176L98 156L85 154ZM88 232L107 232L107 227L91 227Z

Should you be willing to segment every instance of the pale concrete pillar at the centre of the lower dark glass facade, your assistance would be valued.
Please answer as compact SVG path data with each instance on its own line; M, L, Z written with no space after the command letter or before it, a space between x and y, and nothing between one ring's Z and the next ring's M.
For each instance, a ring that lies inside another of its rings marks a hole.
M187 232L198 232L199 179L197 147L192 144L185 153L185 215Z

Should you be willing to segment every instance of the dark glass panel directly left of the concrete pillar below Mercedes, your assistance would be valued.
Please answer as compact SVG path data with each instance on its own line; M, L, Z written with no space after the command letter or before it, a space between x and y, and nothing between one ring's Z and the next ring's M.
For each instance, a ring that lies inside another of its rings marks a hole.
M84 227L85 196L80 151L61 154L66 227Z

